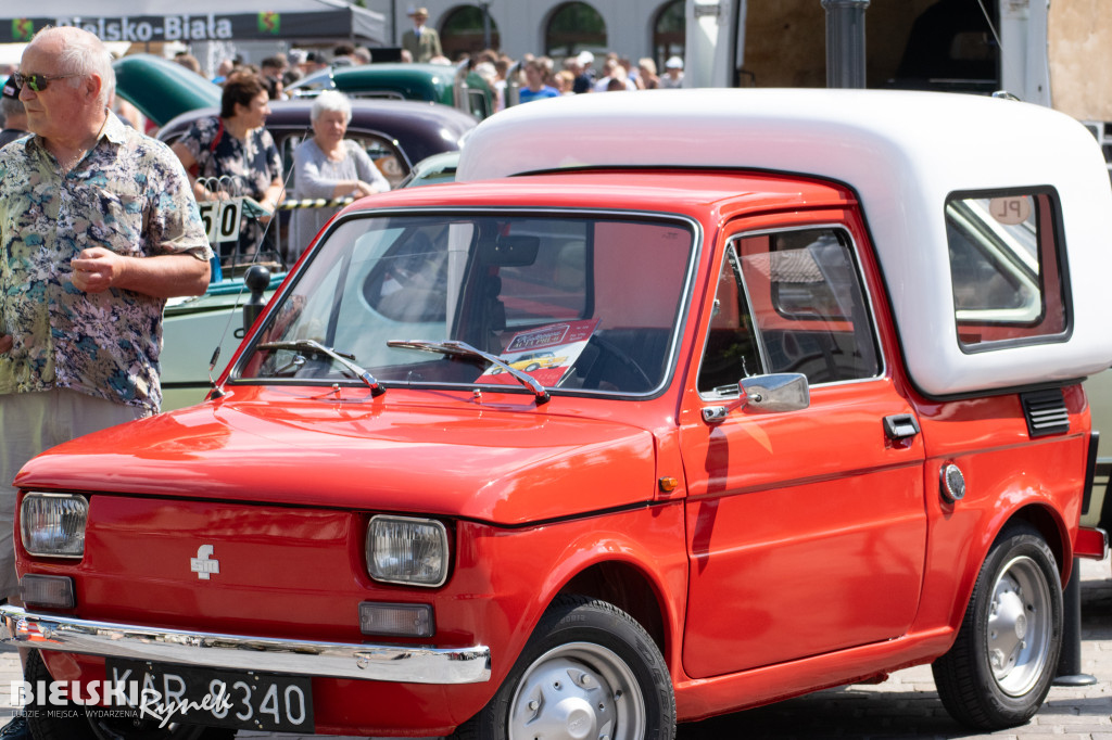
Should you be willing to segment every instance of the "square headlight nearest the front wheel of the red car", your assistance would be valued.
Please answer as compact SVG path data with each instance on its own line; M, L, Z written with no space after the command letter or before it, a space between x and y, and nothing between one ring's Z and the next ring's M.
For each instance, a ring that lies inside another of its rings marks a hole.
M433 519L371 517L367 572L384 583L443 586L448 579L448 531Z

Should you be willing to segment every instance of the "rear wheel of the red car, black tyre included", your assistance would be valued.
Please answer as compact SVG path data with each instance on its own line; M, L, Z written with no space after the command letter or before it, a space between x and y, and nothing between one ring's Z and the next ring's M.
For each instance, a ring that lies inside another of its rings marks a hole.
M1023 724L1042 707L1062 649L1062 587L1042 534L1005 528L985 558L957 639L932 666L951 717L977 730Z

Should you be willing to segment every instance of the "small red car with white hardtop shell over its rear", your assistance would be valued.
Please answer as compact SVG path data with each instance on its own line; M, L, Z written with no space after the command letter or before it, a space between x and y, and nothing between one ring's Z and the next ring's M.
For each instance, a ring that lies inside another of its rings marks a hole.
M1083 127L579 96L480 123L458 180L345 209L203 403L20 472L0 613L73 711L32 727L671 738L929 662L957 721L1031 718L1106 548Z

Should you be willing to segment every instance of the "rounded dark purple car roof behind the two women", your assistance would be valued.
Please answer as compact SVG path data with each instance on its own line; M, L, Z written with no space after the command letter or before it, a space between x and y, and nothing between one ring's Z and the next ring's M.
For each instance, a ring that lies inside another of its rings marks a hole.
M459 148L475 119L463 111L441 106L408 100L351 100L350 134L378 133L397 142L411 166L426 157ZM289 133L312 134L311 99L275 100L270 102L267 130L276 138ZM178 116L159 131L162 141L173 141L189 129L193 121L217 116L219 110L206 108Z

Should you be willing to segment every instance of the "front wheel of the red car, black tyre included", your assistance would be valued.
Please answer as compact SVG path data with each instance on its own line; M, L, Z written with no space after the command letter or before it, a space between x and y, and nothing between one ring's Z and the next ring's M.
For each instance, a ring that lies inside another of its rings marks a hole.
M585 721L595 727L583 734ZM539 723L546 740L573 737L569 724L575 737L672 740L676 700L668 667L629 614L597 599L560 597L498 692L451 737L507 740L515 727L515 737L524 737L526 723Z

